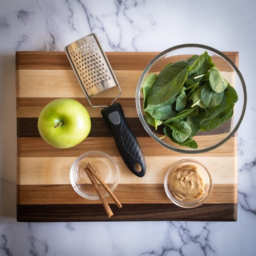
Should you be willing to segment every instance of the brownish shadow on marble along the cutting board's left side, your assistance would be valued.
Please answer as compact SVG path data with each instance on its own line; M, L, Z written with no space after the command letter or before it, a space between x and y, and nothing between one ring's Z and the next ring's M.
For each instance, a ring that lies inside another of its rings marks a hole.
M0 56L0 215L16 218L15 53Z

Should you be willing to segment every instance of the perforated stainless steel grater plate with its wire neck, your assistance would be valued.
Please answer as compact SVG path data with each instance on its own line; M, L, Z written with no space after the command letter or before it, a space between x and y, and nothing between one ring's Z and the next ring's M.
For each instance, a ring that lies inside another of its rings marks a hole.
M106 107L105 105L93 105L90 98L117 86L119 94L112 101L111 104L113 104L121 95L121 88L95 34L90 34L73 42L64 50L91 106Z

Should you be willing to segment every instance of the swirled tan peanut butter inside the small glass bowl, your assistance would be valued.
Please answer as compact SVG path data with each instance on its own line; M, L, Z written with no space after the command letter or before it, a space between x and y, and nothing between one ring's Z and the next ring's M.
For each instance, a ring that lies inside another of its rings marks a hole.
M173 195L181 201L193 201L204 194L205 178L195 165L177 168L169 178Z

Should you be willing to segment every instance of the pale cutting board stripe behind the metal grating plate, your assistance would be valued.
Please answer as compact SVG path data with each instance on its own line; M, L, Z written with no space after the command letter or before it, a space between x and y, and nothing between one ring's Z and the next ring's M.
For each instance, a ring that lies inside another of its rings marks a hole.
M122 90L121 97L135 97L137 82L142 70L116 70L114 72ZM18 98L85 97L73 70L18 70L16 76ZM117 87L114 87L97 94L94 98L114 99L117 95Z

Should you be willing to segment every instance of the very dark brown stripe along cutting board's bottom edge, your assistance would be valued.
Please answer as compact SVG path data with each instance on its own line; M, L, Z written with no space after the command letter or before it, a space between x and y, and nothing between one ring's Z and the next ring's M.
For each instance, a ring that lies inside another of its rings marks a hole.
M17 221L237 221L237 204L203 204L192 209L174 204L123 204L121 209L116 205L110 206L114 212L111 218L98 204L17 204Z

